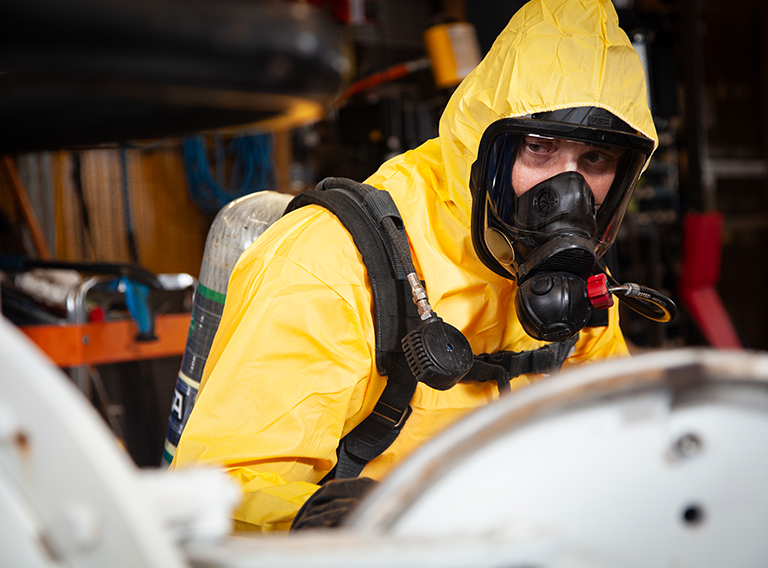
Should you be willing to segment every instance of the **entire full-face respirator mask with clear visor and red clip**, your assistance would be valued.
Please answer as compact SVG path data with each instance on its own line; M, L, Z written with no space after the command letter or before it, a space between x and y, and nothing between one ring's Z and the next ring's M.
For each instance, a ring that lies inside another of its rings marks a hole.
M594 309L613 305L612 293L656 321L674 317L668 298L636 284L620 285L596 270L616 237L653 146L649 138L594 107L502 119L486 129L470 180L472 242L486 266L517 282L515 309L530 336L566 341L587 324ZM576 154L587 165L607 161L613 175L605 183L604 174L605 187L593 188L584 175L568 168L531 187L514 187L520 171L515 165L521 160L522 169L521 152L530 148L543 172L550 154L578 148ZM542 156L536 153L540 148Z

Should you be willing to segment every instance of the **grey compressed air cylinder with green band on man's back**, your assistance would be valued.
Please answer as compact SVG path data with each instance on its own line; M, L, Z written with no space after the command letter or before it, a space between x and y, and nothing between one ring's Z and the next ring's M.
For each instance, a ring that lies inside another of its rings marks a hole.
M205 241L187 345L173 393L163 448L165 465L173 460L179 438L195 405L203 367L224 311L232 269L243 251L282 216L290 200L290 195L276 191L252 193L224 206L213 220Z

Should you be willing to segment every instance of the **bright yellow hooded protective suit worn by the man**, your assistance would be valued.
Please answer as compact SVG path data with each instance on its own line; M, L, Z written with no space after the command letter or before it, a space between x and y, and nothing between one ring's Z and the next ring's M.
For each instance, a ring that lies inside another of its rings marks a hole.
M495 120L563 107L603 107L656 138L643 69L609 0L534 0L458 87L440 136L385 163L368 183L403 216L418 276L435 311L475 353L528 350L514 282L477 258L469 171ZM175 466L223 464L245 491L240 529L286 529L336 461L336 448L372 410L385 379L374 357L372 299L350 235L326 210L280 219L238 261L200 394ZM627 354L611 309L585 328L569 365ZM521 376L512 388L529 383ZM364 476L382 478L425 440L498 397L495 383L439 392L419 385L413 414Z

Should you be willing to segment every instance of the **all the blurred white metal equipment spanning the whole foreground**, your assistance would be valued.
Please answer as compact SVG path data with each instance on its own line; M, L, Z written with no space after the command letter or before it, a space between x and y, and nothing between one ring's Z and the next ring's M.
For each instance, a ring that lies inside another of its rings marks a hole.
M224 536L233 494L216 472L134 468L6 322L0 365L3 567L768 564L766 355L563 373L435 438L346 528L288 538Z

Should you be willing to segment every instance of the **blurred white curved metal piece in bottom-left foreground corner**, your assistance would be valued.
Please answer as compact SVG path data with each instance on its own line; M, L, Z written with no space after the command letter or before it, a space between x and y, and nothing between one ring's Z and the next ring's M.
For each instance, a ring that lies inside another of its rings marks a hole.
M4 319L0 361L0 565L186 566L101 418Z

